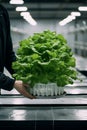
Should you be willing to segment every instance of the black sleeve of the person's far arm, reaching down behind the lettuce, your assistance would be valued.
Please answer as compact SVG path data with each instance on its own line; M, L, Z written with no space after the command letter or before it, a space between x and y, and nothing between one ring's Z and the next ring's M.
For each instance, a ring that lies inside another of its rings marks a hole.
M13 44L12 44L12 39L11 39L11 32L10 32L10 19L9 15L6 9L4 9L4 18L6 21L6 60L5 60L5 67L6 69L13 74L13 69L12 69L12 62L16 60L16 55L13 50Z

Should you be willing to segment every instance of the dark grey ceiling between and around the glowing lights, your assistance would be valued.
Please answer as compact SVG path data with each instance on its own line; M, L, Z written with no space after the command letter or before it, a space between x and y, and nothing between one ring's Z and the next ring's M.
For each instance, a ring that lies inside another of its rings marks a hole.
M9 13L10 19L21 19L15 11L18 5L10 5L9 0L0 0ZM24 0L24 6L34 19L64 19L72 11L78 11L79 6L87 5L87 0ZM81 12L79 19L87 19L87 12Z

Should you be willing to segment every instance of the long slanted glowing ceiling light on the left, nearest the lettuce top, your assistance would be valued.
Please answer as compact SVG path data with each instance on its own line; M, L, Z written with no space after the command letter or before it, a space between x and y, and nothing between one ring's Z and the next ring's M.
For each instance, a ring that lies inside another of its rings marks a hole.
M31 25L35 26L37 24L37 22L32 18L29 12L21 12L20 15L23 16L23 18Z

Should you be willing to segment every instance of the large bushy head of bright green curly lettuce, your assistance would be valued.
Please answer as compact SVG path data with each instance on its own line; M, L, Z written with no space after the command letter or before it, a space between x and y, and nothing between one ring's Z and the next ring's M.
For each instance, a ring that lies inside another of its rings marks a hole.
M77 79L76 59L62 34L45 30L19 42L13 77L29 83L73 84Z

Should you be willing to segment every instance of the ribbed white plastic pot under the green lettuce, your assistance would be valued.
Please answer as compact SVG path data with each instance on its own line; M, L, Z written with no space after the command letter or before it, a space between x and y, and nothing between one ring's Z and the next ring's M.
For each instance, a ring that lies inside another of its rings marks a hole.
M64 94L64 87L58 87L56 83L37 83L28 91L34 96L57 96Z

